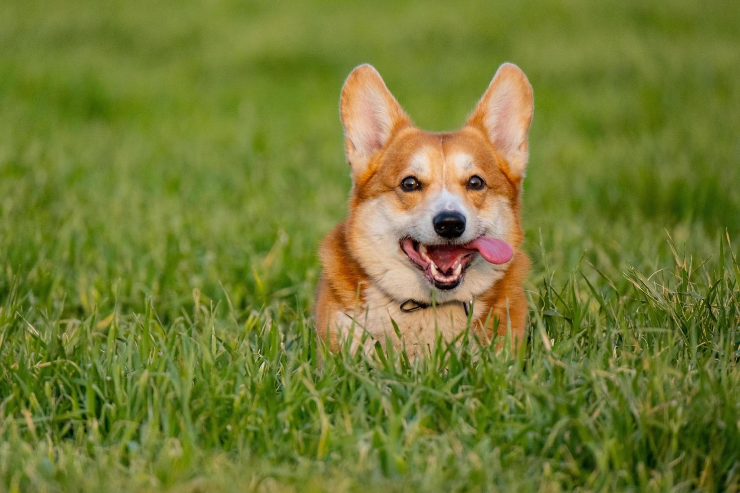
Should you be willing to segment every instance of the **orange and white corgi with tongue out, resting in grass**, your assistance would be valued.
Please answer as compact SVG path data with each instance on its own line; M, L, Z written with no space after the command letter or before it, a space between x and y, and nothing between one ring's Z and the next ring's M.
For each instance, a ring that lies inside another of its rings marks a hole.
M437 331L451 340L468 324L482 341L510 333L514 348L522 344L533 111L524 72L502 64L462 129L425 132L374 67L352 70L340 98L349 215L321 243L315 305L317 334L332 350L349 341L369 353L392 341L416 356Z

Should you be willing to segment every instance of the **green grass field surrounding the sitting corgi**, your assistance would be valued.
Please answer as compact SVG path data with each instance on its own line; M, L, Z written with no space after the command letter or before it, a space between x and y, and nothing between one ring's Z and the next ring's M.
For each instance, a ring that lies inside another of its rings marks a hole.
M0 2L0 491L738 491L739 39L732 1ZM343 78L444 130L503 61L527 354L319 369Z

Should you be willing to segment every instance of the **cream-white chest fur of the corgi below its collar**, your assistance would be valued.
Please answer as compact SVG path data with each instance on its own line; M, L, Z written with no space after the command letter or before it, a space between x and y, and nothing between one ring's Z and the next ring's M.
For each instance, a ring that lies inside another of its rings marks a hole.
M357 310L337 313L340 340L351 334L352 350L362 344L363 350L369 353L376 341L385 344L387 337L394 347L405 346L411 356L431 347L437 331L445 340L451 340L465 330L468 323L462 302L405 312L401 310L399 302L388 298L377 288L366 290L365 300L365 305ZM487 309L481 302L474 303L473 319L481 316ZM402 339L395 333L391 320L397 324ZM363 336L366 337L364 344Z

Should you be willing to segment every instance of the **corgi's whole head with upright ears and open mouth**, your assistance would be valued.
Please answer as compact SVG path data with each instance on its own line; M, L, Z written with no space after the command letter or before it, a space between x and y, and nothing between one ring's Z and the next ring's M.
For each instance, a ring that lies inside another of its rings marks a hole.
M353 188L350 254L395 299L468 301L522 242L532 90L504 64L459 131L417 129L369 65L342 90Z

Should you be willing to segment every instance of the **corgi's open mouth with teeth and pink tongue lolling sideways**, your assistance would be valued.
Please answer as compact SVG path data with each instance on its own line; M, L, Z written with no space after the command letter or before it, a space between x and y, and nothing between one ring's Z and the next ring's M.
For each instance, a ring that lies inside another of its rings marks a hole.
M426 279L439 289L457 288L477 253L492 264L505 264L514 256L511 245L490 237L480 237L465 245L424 245L404 238L401 249Z

